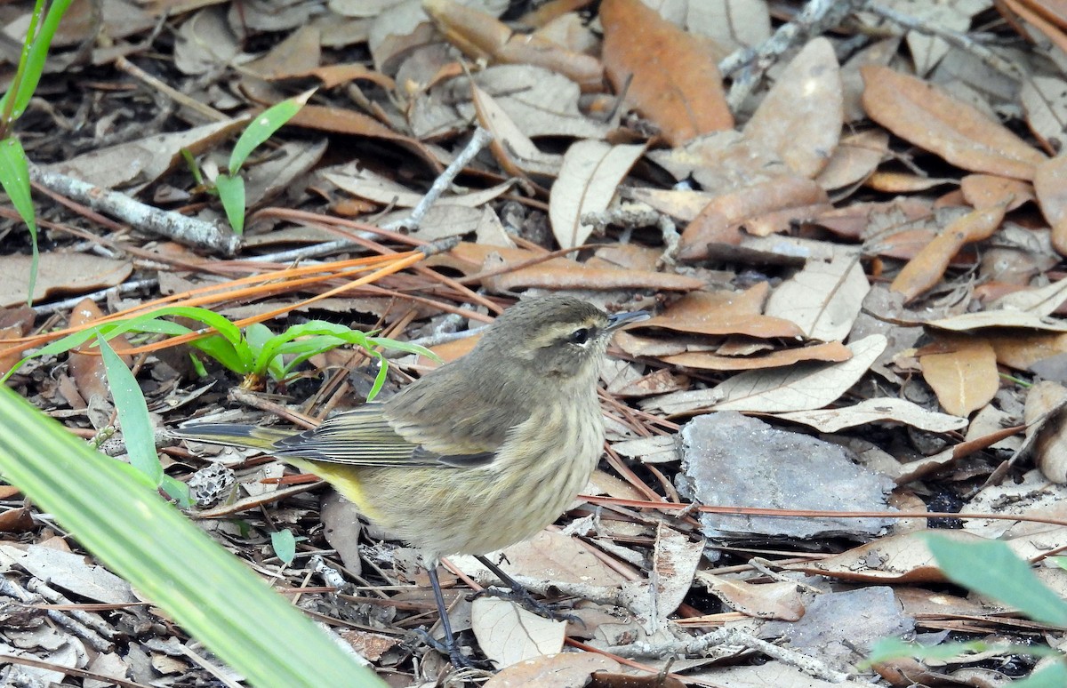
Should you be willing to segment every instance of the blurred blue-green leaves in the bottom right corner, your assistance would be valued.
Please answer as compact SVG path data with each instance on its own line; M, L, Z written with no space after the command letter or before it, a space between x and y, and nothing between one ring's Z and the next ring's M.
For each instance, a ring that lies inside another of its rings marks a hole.
M954 583L1015 607L1034 621L1067 627L1067 602L1034 575L1028 562L999 541L958 542L937 534L926 535L927 545L944 575ZM924 647L887 638L871 650L867 663L899 657L949 660L970 653L998 651L1004 654L1054 656L1048 665L1026 678L1012 682L1013 688L1062 688L1067 686L1067 662L1051 647L991 645L985 642L942 643Z

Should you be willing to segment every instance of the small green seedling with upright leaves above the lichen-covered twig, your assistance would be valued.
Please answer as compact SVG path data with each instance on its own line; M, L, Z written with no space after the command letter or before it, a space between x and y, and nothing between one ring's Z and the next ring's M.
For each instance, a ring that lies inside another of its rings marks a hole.
M266 143L275 131L300 112L300 109L314 93L314 90L307 91L299 96L283 100L256 115L241 132L234 150L229 154L227 171L219 173L213 185L205 181L190 153L182 149L181 153L192 170L196 183L205 187L209 193L219 196L219 199L222 201L222 207L226 211L229 226L237 234L244 231L244 178L238 174L241 166L244 165L244 161L249 159L253 150Z

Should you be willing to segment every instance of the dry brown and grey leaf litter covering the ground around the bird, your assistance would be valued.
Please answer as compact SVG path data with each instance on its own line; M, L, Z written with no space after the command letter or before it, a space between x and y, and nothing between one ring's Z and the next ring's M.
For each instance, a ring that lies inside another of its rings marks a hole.
M39 178L32 310L27 233L3 213L0 362L168 294L210 293L275 332L379 329L445 358L519 297L651 308L612 348L608 452L589 497L561 529L494 556L583 623L471 604L469 589L496 585L488 571L464 558L442 571L461 642L499 671L484 685L1028 675L1024 655L862 660L890 636L1064 642L988 598L944 595L919 533L1004 539L1067 587L1045 559L1067 545L1063 526L1026 521L1065 517L1067 15L1033 0L507 4L106 3L102 22L71 25L50 77L78 87L38 94L19 129L31 160L216 228L225 215L186 156L210 179L250 116L319 91L249 160L235 256ZM30 7L11 10L17 33ZM468 143L477 125L488 146ZM433 243L447 238L460 242ZM428 244L431 257L372 283L301 281L309 261ZM116 348L159 428L223 409L237 422L322 418L375 377L365 356L332 351L255 397L227 394L239 380L193 365L188 347ZM90 439L114 425L98 365L89 351L49 356L9 384ZM384 394L430 365L397 359ZM449 671L413 633L437 633L413 550L275 462L163 451L169 475L203 485L190 515L275 587L306 589L297 604L391 685ZM17 491L0 497L0 654L23 661L5 681L206 679L180 628L47 514L30 518ZM300 535L289 565L271 547L278 529Z

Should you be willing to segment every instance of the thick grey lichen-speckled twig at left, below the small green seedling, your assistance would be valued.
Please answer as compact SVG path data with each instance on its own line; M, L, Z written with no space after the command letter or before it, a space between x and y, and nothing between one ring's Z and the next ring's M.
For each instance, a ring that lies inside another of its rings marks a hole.
M110 191L58 172L30 166L30 179L57 193L105 212L134 228L150 231L190 246L210 249L227 256L237 253L241 239L213 224L177 212L153 208L126 194Z

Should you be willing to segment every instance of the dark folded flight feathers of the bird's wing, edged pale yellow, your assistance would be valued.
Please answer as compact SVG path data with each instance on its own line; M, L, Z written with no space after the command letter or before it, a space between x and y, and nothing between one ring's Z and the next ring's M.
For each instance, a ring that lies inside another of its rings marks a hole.
M278 458L309 459L367 467L481 466L493 460L493 447L482 451L441 453L409 442L383 414L383 404L368 403L328 418L318 428L277 439L268 450Z

